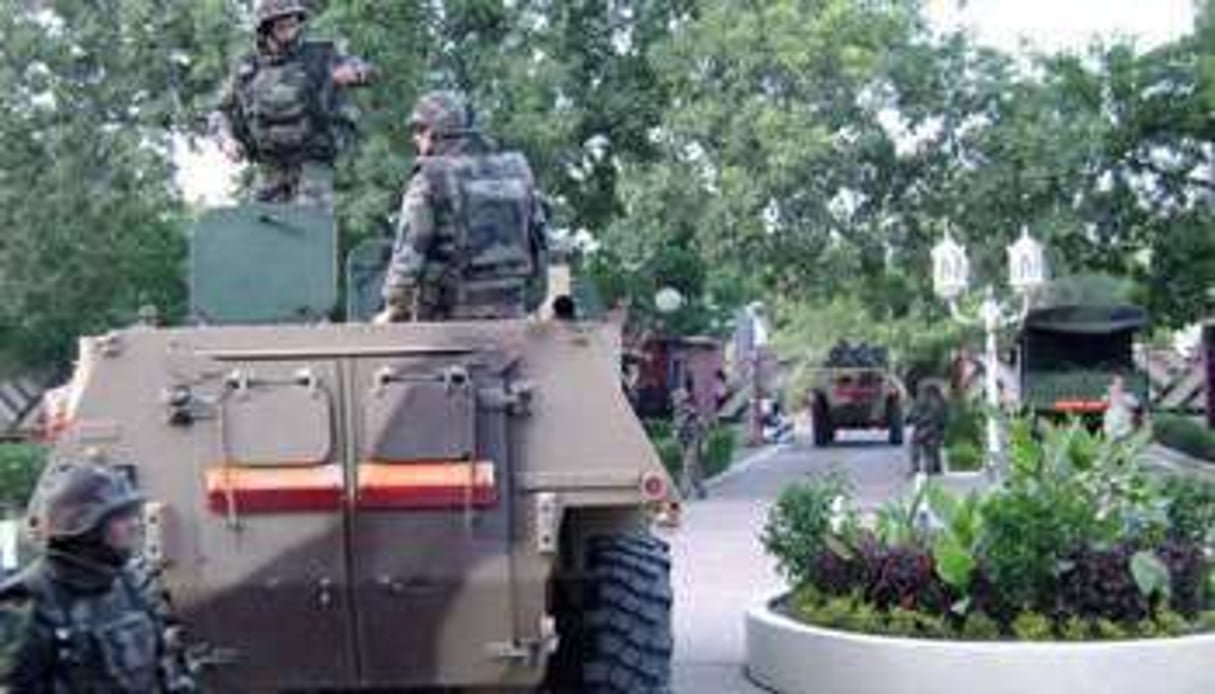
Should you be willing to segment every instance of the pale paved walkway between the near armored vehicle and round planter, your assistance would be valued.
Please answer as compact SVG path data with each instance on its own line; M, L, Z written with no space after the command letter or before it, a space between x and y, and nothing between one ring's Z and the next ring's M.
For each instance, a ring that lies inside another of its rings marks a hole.
M676 694L756 694L742 672L744 614L784 589L759 534L785 486L808 475L846 472L863 506L909 484L905 451L880 438L850 435L836 447L770 448L716 480L710 498L685 507L671 534L676 588Z

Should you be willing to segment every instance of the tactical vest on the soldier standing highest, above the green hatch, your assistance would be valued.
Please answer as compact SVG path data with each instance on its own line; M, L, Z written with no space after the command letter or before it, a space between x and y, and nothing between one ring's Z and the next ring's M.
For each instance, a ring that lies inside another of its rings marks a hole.
M332 58L329 44L306 43L288 56L245 63L237 96L253 152L276 160L334 157L328 118Z

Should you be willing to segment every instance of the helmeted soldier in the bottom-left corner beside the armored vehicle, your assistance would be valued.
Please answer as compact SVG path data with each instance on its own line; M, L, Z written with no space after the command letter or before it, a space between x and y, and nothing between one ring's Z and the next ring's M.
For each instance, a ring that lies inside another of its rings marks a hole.
M58 473L41 503L44 555L0 587L2 690L194 690L173 654L168 603L132 564L141 503L115 470Z

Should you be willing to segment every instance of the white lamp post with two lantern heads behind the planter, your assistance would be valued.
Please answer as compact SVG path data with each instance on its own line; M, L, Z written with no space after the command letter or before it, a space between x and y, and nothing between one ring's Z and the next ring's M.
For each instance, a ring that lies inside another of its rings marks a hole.
M970 284L970 259L966 249L945 231L945 238L932 249L932 282L937 295L949 304L954 320L971 326L982 326L987 335L984 355L984 390L988 405L987 419L987 472L995 476L999 461L1004 457L1000 436L1000 329L1018 325L1029 311L1029 299L1034 289L1046 281L1046 260L1042 246L1022 228L1021 238L1008 247L1008 284L1019 299L1019 305L1006 305L996 298L995 288L988 286L977 316L967 316L959 299Z

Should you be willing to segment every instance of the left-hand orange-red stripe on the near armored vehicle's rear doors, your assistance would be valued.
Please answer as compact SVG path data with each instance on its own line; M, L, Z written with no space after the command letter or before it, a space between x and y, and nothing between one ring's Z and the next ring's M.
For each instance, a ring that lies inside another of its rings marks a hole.
M207 470L207 504L214 513L338 510L344 498L340 466Z

